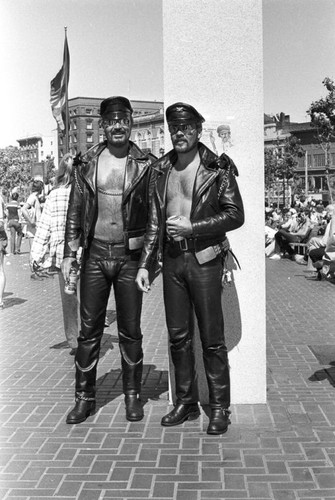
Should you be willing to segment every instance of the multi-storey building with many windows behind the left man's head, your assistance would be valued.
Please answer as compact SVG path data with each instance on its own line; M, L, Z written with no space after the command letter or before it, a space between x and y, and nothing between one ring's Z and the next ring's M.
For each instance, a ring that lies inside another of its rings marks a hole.
M75 97L69 99L69 152L84 154L104 140L99 126L102 98ZM134 126L131 139L146 152L155 156L164 153L164 115L161 101L131 101ZM66 151L66 134L58 130L58 152L62 158Z

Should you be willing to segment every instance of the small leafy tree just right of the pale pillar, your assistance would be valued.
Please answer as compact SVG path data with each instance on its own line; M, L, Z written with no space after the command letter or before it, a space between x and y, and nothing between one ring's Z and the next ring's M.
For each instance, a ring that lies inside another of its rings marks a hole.
M285 206L289 181L296 184L298 158L304 155L304 149L300 145L300 140L291 135L284 142L278 140L274 148L265 148L264 155L265 186L267 189L271 189L276 183L278 184L278 181L281 181Z

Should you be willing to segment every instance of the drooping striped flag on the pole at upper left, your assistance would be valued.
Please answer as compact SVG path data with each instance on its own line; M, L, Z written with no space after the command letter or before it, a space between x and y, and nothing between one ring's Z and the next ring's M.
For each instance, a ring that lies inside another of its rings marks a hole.
M65 114L66 114L66 99L67 86L70 76L70 54L65 35L63 66L58 71L57 75L51 80L50 103L52 114L61 130L65 130Z

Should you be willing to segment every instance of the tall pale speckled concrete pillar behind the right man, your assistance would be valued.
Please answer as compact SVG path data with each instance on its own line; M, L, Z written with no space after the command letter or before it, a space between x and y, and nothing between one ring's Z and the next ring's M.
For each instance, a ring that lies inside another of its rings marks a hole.
M163 37L165 106L195 106L203 142L239 170L246 222L228 236L241 270L225 292L232 403L265 403L262 1L163 0Z

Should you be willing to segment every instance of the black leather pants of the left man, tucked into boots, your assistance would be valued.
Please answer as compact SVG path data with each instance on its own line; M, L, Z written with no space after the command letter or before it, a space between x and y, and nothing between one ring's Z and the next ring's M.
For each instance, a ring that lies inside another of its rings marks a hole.
M95 242L96 240L93 240ZM76 353L76 397L94 400L100 343L111 287L121 353L124 394L139 394L143 370L140 327L142 293L135 277L137 259L111 257L107 244L93 244L85 252L80 279L81 331ZM109 245L111 247L111 245Z

